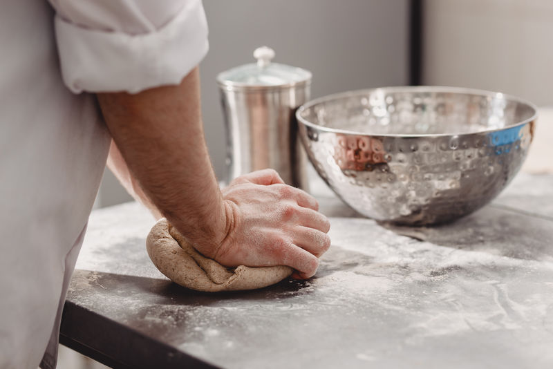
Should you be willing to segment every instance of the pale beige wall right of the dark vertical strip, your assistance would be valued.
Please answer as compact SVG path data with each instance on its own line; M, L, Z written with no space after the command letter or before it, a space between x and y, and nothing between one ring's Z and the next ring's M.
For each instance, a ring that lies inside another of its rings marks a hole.
M552 0L425 0L424 84L553 104Z

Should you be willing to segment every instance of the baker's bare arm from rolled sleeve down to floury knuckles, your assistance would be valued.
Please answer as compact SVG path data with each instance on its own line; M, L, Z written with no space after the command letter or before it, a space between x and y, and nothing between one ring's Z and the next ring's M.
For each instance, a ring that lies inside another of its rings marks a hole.
M296 276L312 276L330 244L328 220L314 198L284 185L275 171L237 178L221 193L203 137L199 86L195 68L179 86L97 95L119 149L113 153L120 151L129 169L118 177L135 178L127 182L143 202L205 256L228 266L288 265Z

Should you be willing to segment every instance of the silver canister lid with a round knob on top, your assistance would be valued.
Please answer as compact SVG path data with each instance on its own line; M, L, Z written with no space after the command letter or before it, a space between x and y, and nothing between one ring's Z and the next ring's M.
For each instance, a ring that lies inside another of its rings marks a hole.
M272 63L274 50L267 46L256 48L257 63L237 66L219 73L217 82L227 90L286 88L311 81L311 72L303 68Z

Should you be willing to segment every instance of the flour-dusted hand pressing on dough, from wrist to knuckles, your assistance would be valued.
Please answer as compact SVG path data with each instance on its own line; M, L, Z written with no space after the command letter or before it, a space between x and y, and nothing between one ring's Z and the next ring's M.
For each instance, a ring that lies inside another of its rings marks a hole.
M285 185L272 169L236 178L223 190L225 238L214 254L223 265L288 265L309 278L330 247L330 223L317 200Z

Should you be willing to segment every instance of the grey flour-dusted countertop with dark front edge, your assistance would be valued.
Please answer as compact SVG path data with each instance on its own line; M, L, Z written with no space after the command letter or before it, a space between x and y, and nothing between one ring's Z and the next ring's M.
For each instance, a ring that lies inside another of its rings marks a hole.
M331 216L319 272L251 292L171 283L144 208L93 211L60 340L121 368L553 368L552 175L519 173L433 228L385 228L313 192Z

